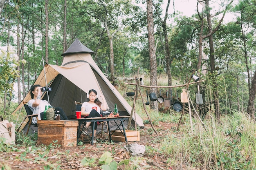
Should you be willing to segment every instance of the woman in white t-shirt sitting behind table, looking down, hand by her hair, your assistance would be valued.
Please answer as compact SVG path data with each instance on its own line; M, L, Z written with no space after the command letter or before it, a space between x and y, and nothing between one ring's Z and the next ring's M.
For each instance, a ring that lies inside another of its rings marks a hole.
M99 96L102 98L102 102L99 101L97 91L94 89L91 89L88 94L88 102L83 102L81 106L81 116L83 117L101 117L100 111L106 111L107 110L107 104L106 100L103 95ZM83 128L83 133L88 131L88 127L90 126L91 122L87 122L85 124L85 127ZM93 127L92 127L93 128ZM97 124L95 124L94 128L94 136L96 136L96 131L97 131Z

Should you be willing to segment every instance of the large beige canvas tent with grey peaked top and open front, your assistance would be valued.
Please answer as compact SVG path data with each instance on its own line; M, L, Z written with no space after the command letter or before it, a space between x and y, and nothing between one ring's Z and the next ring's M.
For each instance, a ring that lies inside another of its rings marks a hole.
M110 110L114 110L117 104L120 115L130 115L132 107L99 69L92 59L93 53L76 39L62 54L64 56L62 65L45 64L34 84L46 86L46 78L47 86L52 87L52 91L48 93L50 104L63 108L69 119L75 118L75 101L87 101L86 93L90 89L95 89L99 96L104 95ZM23 103L27 103L30 99L29 91L13 113L16 113L22 108ZM48 100L46 93L43 99ZM133 114L132 125L135 124L135 115L137 125L144 126L143 120L137 114ZM125 123L127 125L128 121ZM25 121L24 124L27 122ZM20 129L24 126L21 125Z

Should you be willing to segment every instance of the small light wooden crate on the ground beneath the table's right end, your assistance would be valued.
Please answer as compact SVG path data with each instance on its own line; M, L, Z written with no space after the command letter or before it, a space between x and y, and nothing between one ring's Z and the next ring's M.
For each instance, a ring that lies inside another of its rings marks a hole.
M139 141L139 131L126 130L125 132L126 132L127 141ZM125 142L125 137L120 130L116 130L111 135L111 139L113 141Z

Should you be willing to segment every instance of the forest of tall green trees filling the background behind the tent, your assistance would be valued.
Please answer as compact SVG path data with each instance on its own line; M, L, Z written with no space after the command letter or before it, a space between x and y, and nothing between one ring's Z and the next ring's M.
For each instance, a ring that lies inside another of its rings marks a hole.
M145 0L0 0L3 113L10 114L6 103L13 101L13 84L21 102L42 60L61 65L61 54L78 38L95 52L93 59L113 84L115 77L130 77L139 69L150 85L157 82L156 73L166 75L171 86L173 79L186 82L195 71L207 80L200 92L217 119L231 110L254 118L256 2L198 0L191 16L176 11L171 4L177 0L150 2L152 15ZM226 20L227 13L234 19Z

